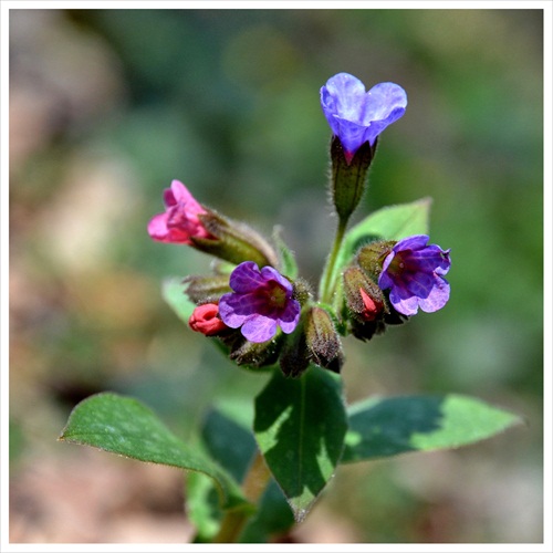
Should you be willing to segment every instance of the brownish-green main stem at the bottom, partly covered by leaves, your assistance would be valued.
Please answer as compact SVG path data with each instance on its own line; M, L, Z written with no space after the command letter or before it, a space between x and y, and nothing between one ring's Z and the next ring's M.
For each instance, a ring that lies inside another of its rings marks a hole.
M243 480L244 498L257 505L270 479L271 472L263 456L258 451ZM249 511L228 511L222 519L219 533L213 538L213 543L237 543L251 514Z

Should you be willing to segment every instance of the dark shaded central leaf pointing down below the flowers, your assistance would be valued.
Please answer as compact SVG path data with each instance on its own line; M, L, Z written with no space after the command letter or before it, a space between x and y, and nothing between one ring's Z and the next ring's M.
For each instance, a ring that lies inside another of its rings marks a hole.
M255 398L253 431L296 521L332 478L346 429L341 379L328 371L312 366L298 379L275 372Z

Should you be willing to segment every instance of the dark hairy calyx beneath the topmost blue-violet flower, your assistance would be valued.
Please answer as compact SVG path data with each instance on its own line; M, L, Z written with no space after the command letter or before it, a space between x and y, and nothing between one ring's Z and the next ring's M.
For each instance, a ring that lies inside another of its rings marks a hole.
M364 143L349 158L340 138L334 136L332 139L332 197L341 221L347 221L361 201L376 144L376 140L373 146Z

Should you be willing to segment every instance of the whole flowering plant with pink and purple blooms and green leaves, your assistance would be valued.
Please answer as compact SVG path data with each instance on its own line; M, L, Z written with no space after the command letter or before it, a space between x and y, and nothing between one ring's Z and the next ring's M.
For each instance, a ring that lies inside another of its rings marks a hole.
M212 274L187 275L164 290L192 331L267 378L246 431L243 416L215 409L190 445L135 399L106 393L77 405L61 436L191 471L187 500L197 542L270 541L306 517L340 463L459 447L520 420L459 395L346 404L342 337L369 341L419 307L445 307L451 259L449 249L428 244L428 199L380 209L348 228L379 135L405 114L405 91L382 83L365 92L340 73L321 88L321 106L333 135L337 228L316 292L279 236L265 239L202 206L178 180L164 192L165 212L148 225L156 241L221 260Z

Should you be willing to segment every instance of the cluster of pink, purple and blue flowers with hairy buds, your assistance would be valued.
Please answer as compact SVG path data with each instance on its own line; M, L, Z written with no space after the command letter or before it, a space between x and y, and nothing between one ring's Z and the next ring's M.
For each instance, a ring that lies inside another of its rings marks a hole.
M165 212L148 225L157 241L186 244L225 260L231 271L185 279L196 309L191 330L215 337L231 359L250 367L280 364L299 376L310 364L340 372L341 336L369 340L387 325L435 312L449 300L445 275L449 250L427 234L390 240L367 236L348 252L346 226L366 189L366 175L382 132L405 114L407 95L394 83L365 91L338 73L321 88L321 107L332 131L331 190L338 215L336 240L319 296L296 276L292 252L272 246L248 226L198 202L178 180L164 192Z

